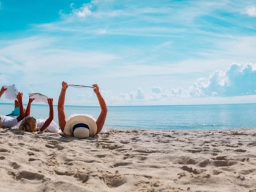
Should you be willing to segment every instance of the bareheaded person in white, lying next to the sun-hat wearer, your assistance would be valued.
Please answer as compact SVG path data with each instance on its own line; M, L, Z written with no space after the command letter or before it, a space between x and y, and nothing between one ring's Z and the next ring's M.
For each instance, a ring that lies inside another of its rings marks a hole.
M30 116L31 104L34 101L34 98L29 98L25 118L21 121L19 125L19 130L25 130L28 132L59 132L58 125L53 121L54 112L53 112L53 99L48 98L48 104L50 108L49 118L48 119L35 119Z

